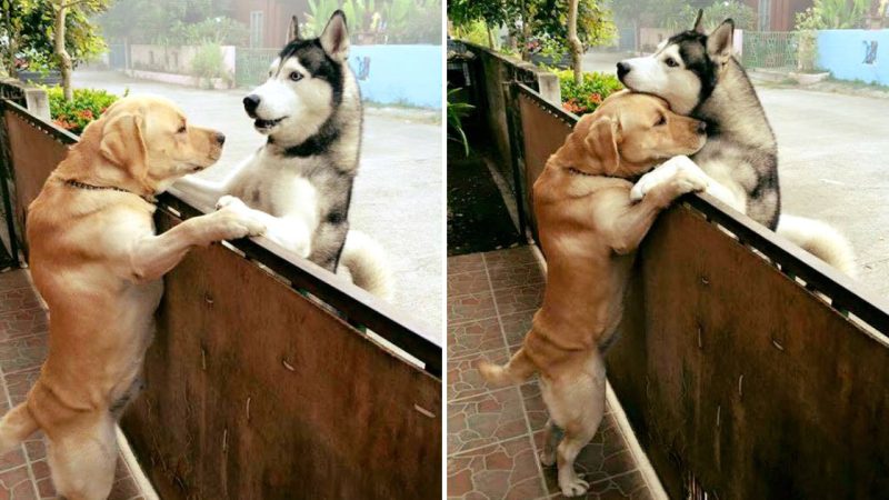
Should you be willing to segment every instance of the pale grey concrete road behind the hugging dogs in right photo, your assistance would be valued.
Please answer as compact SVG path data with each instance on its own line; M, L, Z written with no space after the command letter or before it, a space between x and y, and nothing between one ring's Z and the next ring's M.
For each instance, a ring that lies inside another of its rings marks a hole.
M623 57L587 52L583 70L615 73ZM889 299L889 99L769 83L757 92L778 138L783 212L841 230L865 288Z

